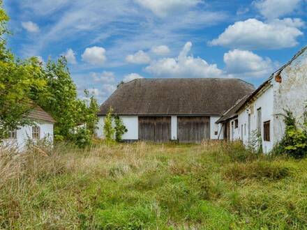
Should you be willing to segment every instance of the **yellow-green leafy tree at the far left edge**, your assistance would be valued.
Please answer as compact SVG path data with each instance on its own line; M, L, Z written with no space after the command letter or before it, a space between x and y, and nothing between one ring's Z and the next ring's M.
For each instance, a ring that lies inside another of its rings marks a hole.
M39 77L42 69L37 59L15 60L6 49L3 36L8 34L8 19L0 1L0 141L8 130L31 123L27 114L33 107L33 91L45 86L44 79Z

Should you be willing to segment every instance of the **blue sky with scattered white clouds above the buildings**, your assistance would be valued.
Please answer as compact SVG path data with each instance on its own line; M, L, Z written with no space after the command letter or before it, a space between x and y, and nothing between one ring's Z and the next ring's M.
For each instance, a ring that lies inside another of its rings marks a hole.
M24 59L66 56L80 97L136 78L236 77L259 86L307 45L307 0L4 0Z

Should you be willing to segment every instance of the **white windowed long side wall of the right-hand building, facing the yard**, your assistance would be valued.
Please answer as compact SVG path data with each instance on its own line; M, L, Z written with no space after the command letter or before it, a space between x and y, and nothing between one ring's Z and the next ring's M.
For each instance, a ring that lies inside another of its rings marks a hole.
M258 95L258 98L247 105L241 112L239 112L239 130L236 133L237 137L241 139L241 127L244 128L244 144L248 144L248 114L250 114L250 132L253 133L257 130L257 109L261 107L262 114L262 124L261 124L261 136L262 136L262 148L264 153L268 153L274 146L274 136L273 136L273 127L274 127L274 91L273 87L264 91L261 95ZM270 141L264 141L263 139L263 123L265 121L270 121ZM246 129L246 132L245 132Z

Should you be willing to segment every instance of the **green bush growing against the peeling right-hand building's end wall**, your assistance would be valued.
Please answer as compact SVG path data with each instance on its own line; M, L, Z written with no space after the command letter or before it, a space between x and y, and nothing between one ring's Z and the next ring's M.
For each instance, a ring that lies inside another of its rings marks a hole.
M307 113L304 112L304 122L297 123L292 112L285 110L285 134L283 139L274 146L273 155L288 155L294 158L304 158L307 155Z

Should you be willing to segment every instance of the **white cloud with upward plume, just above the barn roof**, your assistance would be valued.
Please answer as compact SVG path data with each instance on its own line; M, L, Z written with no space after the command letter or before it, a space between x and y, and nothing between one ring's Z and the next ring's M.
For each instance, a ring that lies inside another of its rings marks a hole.
M222 77L223 71L216 64L188 56L191 47L192 43L188 42L177 58L153 61L145 70L158 77Z

